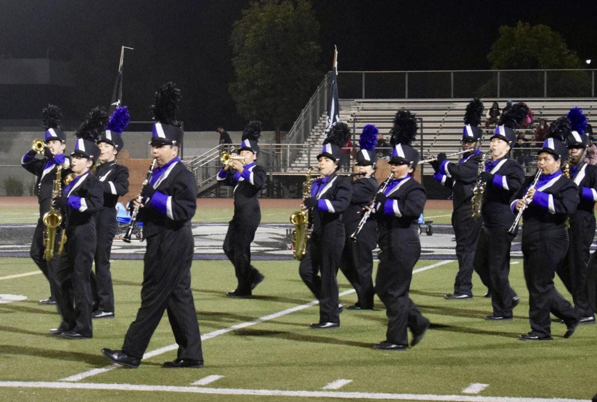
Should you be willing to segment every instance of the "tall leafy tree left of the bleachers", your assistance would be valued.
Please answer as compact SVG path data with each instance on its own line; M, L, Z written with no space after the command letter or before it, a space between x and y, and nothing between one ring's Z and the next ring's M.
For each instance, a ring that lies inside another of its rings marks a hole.
M244 118L273 125L279 143L321 80L319 23L306 0L253 2L242 14L230 36L230 94Z

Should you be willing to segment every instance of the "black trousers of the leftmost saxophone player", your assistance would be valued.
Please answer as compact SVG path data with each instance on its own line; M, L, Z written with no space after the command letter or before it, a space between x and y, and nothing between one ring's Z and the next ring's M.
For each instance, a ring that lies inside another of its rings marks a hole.
M93 336L91 310L91 266L96 253L96 228L92 218L83 225L66 230L66 244L54 274L56 304L62 323L60 329Z

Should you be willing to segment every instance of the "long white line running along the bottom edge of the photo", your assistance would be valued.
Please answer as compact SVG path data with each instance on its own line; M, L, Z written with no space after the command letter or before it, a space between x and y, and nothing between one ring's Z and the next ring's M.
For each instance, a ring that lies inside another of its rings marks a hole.
M0 381L2 388L102 389L114 391L181 392L188 394L250 395L268 397L343 398L447 402L587 402L569 398L481 397L472 395L390 394L389 392L288 391L283 389L207 388L199 386L107 384L93 382Z

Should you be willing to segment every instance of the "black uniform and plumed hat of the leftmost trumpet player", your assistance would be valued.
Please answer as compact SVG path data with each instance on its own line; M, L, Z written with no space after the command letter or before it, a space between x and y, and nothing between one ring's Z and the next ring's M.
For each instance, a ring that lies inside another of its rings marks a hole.
M51 141L60 141L63 145L66 143L66 134L60 130L60 109L54 105L48 105L48 108L42 112L44 121L44 143L48 144ZM44 231L45 225L43 221L44 214L50 210L50 202L52 197L52 190L54 180L56 179L56 167L58 165L68 166L69 159L64 157L64 154L53 155L48 148L44 148L44 158L35 158L36 151L30 149L23 158L21 158L21 165L29 171L29 173L37 176L35 181L35 195L39 203L39 219L33 232L33 239L31 241L31 248L29 255L35 265L39 267L41 272L50 284L50 297L45 300L39 300L40 304L55 304L56 296L54 291L54 282L52 280L53 272L56 270L58 259L54 258L50 261L45 259L44 246ZM66 169L62 170L66 173ZM66 176L63 174L62 177ZM59 233L60 234L60 233Z

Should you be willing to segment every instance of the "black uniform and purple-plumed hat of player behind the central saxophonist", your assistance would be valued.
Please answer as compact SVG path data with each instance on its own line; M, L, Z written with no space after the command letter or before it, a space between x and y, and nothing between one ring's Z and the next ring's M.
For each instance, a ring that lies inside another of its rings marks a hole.
M374 172L377 162L375 147L377 144L377 127L372 124L363 128L358 153L356 154L356 165L371 166ZM342 216L344 223L344 250L340 259L340 270L346 276L352 287L356 290L357 302L348 309L373 309L373 249L377 246L377 225L375 220L368 220L364 223L361 231L352 240L350 236L355 233L362 212L366 205L373 200L378 188L377 179L374 174L358 177L352 182L352 197L350 205Z

